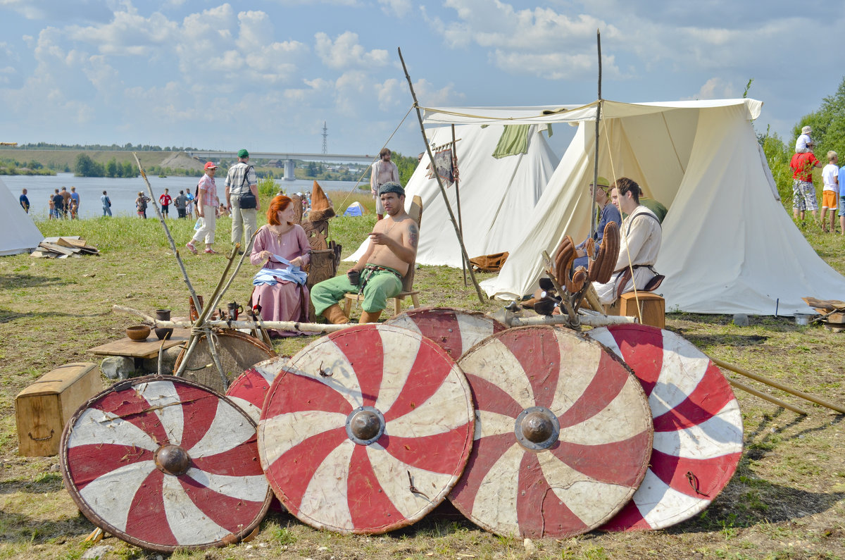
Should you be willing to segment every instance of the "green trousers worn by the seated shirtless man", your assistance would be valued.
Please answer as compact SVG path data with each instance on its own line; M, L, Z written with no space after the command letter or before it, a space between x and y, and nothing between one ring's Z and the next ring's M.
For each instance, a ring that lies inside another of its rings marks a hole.
M361 271L361 281L366 279L361 309L373 313L387 307L387 300L402 291L402 283L397 274L398 272L376 271L370 275L366 268ZM323 311L340 302L344 294L357 294L357 292L358 287L349 282L346 274L314 284L311 288L314 312L317 315L323 315Z

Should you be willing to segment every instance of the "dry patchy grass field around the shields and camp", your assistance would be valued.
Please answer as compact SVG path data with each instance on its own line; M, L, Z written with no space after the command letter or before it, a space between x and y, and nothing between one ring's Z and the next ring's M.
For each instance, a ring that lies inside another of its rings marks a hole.
M330 193L332 200L346 199ZM372 211L372 200L360 200ZM346 204L356 200L350 198ZM332 237L344 255L373 225L373 214L339 217ZM228 218L217 226L215 246L227 246ZM81 222L40 222L45 236L80 235L101 250L79 259L0 258L0 558L78 558L82 539L93 526L81 516L63 488L57 458L17 454L14 397L58 365L96 361L87 349L123 336L136 321L112 305L151 312L162 307L187 315L188 294L175 259L155 219L122 217ZM170 220L179 246L193 233L193 222ZM815 250L845 272L841 237L804 232ZM182 251L198 294L210 294L224 255ZM348 263L341 264L345 270ZM244 266L226 300L246 301L255 272ZM425 305L490 311L500 303L480 303L461 271L423 266L416 287ZM845 366L839 351L845 334L822 327L797 327L791 318L752 317L735 327L730 316L672 314L668 328L713 357L845 403ZM275 343L293 354L313 338ZM739 379L741 380L741 379ZM105 380L107 381L107 380ZM741 380L745 381L745 380ZM753 382L749 382L754 384ZM287 514L270 513L254 541L173 558L291 557L341 558L845 558L845 432L843 415L768 393L807 409L801 418L745 393L738 393L744 418L745 451L739 469L711 507L668 530L632 534L593 532L565 541L523 541L492 535L455 517L429 516L405 530L381 536L341 536L313 530ZM106 538L104 557L155 558L116 538ZM536 549L536 550L532 550Z

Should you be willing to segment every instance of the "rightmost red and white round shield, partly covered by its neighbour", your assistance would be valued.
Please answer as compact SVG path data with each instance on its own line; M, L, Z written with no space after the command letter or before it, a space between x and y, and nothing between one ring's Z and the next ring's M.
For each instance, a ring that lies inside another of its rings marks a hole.
M602 529L662 529L690 519L727 486L742 457L742 415L730 385L705 354L673 332L616 325L589 336L630 366L654 416L646 478Z

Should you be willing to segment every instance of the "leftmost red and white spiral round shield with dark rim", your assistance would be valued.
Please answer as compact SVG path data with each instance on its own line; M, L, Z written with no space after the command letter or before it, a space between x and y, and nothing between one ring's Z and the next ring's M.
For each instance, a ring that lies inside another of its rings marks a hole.
M155 551L240 541L273 496L254 422L179 377L129 379L91 398L65 426L59 454L85 517Z

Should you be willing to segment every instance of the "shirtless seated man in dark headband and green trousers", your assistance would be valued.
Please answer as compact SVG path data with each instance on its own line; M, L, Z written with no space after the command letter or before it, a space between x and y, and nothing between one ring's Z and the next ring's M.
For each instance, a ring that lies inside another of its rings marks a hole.
M346 276L324 280L311 288L314 311L330 323L349 322L338 304L344 294L363 295L358 322L378 321L387 299L402 291L402 277L417 258L419 228L405 211L405 189L398 183L385 183L379 187L379 199L387 217L376 222L361 260Z

